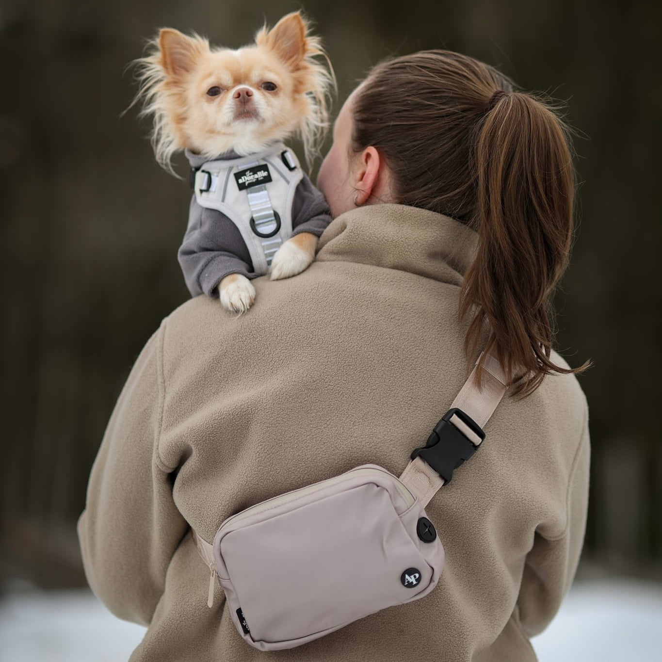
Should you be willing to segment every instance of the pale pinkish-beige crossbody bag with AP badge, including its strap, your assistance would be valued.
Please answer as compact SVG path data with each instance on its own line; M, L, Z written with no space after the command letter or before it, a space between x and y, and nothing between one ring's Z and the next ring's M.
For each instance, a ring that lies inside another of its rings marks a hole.
M480 390L477 369L400 477L360 465L226 518L212 544L191 530L211 571L209 606L218 580L239 634L269 651L432 591L444 547L425 506L479 447L506 391L493 355Z

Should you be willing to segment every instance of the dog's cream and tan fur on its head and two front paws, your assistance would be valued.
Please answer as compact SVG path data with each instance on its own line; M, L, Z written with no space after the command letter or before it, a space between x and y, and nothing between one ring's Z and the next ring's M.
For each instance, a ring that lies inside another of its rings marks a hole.
M154 116L158 162L173 172L177 150L189 148L209 158L229 150L248 155L298 135L310 167L328 128L326 97L336 79L320 39L307 33L298 11L271 30L263 26L254 45L238 50L211 48L197 34L160 30L150 42L152 52L136 61L140 88L134 99L144 101L141 115ZM325 58L328 69L316 56ZM273 257L269 278L301 273L316 247L310 232L290 238ZM248 310L256 294L250 279L238 273L224 277L218 293L233 312Z

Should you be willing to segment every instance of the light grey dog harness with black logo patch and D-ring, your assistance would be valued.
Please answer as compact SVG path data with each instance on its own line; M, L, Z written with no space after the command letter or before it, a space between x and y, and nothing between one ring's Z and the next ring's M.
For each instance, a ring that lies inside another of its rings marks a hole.
M208 161L193 178L201 207L224 213L246 242L253 269L265 274L292 234L292 204L303 171L282 142L236 159Z

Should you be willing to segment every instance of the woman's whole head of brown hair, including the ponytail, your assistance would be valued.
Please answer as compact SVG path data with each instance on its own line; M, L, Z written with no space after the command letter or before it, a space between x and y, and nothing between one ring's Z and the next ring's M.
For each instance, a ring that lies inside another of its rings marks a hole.
M489 323L486 352L500 361L511 395L545 375L579 373L550 360L552 295L573 238L569 130L550 103L515 91L495 68L444 50L385 60L357 89L352 151L377 148L402 205L451 216L479 234L459 318L468 363ZM480 383L480 382L479 382Z

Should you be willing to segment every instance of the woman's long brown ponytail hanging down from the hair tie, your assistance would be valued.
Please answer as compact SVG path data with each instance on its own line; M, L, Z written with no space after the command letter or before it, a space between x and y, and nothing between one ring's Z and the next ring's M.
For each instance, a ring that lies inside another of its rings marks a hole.
M526 397L545 375L591 365L569 369L550 360L552 296L573 237L575 173L567 129L535 97L497 91L476 130L479 244L460 293L460 318L475 310L465 352L475 356L488 322L486 354L496 355L514 383L512 395Z

